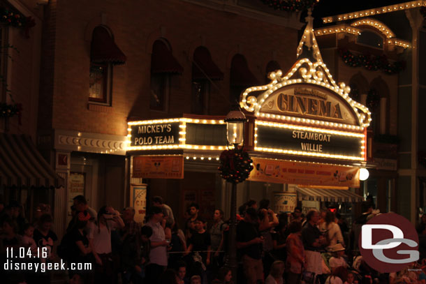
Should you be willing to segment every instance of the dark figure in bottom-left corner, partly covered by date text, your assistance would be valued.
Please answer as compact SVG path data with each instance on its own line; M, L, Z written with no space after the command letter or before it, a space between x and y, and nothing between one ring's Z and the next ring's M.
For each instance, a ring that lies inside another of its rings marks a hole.
M24 281L24 275L22 273L10 273L10 271L6 271L3 263L7 260L6 250L13 248L13 251L19 252L20 246L22 246L22 237L16 233L17 225L15 221L13 221L12 217L8 214L2 216L0 221L0 275L1 275L1 283L21 283ZM19 262L19 259L14 260Z

